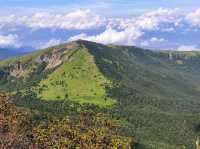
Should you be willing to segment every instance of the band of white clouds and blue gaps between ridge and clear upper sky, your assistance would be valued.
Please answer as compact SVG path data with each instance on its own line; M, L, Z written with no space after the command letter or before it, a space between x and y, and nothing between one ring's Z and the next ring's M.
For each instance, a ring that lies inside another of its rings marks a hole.
M46 48L77 39L152 49L200 49L200 8L159 8L138 16L106 17L90 10L0 14L0 47Z

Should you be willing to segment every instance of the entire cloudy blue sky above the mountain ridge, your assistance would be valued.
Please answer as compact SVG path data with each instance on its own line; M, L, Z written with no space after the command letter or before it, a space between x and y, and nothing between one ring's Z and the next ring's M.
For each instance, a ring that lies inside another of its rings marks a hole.
M200 49L199 0L0 0L0 48L76 39L159 50Z

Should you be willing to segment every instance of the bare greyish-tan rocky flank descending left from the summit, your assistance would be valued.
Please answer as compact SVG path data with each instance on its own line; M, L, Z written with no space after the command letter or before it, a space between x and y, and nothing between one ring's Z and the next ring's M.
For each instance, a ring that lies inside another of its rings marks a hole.
M16 78L24 77L26 74L35 72L38 67L43 64L45 64L43 70L54 69L64 62L70 61L70 55L77 47L77 42L71 42L61 47L54 47L51 50L46 50L38 56L31 58L29 61L15 61L6 67L2 67L0 76L6 73Z

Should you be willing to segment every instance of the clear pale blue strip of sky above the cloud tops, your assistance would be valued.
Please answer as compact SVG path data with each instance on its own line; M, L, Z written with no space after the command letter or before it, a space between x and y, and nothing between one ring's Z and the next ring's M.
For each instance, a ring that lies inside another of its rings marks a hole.
M91 9L108 16L128 16L163 8L196 9L199 0L0 0L2 11L10 9L57 9L70 11Z

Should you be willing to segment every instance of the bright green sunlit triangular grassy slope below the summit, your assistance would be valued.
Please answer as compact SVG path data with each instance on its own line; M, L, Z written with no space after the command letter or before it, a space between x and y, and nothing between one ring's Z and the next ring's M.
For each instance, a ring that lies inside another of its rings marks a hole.
M86 49L76 51L70 62L40 82L41 99L70 99L79 103L111 106L115 100L106 96L106 86L112 83L106 79Z

